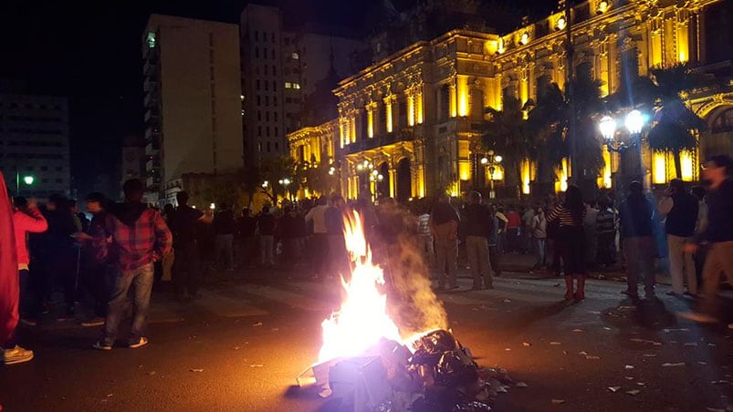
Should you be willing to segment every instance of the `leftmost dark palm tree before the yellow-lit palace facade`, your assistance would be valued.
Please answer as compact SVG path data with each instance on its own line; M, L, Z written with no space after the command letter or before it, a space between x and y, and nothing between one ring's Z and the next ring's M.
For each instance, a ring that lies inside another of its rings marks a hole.
M483 147L494 150L505 159L507 186L513 190L516 188L518 194L521 162L535 153L534 141L524 119L524 108L518 98L505 96L501 110L486 108L486 112L491 118L481 137Z

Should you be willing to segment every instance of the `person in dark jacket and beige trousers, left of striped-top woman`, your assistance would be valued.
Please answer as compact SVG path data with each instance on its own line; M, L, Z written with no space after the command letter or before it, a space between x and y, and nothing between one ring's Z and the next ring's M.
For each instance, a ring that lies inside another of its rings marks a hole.
M462 221L462 232L466 235L466 254L471 272L474 276L474 290L494 289L491 277L491 264L488 261L487 237L493 230L494 220L491 212L481 204L481 193L472 191L468 194L466 219ZM483 287L481 279L483 277Z

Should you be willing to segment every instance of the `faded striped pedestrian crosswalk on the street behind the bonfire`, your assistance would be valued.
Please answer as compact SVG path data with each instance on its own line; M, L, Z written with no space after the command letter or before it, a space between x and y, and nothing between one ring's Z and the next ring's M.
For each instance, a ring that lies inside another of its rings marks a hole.
M497 305L504 303L550 304L563 299L564 280L561 277L538 278L531 275L513 275L494 279L492 290L471 290L472 280L458 279L459 288L438 293L446 306ZM615 303L623 299L620 292L624 283L589 279L586 299ZM661 292L662 294L664 292ZM198 312L222 317L261 316L272 313L275 307L290 310L328 314L340 304L340 283L289 280L280 283L227 283L204 290L200 299L190 304ZM170 322L182 318L180 304L161 302L153 304L151 321Z

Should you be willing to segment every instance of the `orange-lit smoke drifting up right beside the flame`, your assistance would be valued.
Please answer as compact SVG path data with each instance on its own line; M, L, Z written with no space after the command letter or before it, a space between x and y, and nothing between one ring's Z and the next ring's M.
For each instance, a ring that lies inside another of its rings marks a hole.
M384 268L390 316L401 335L447 329L445 308L433 292L428 267L417 248L417 218L402 209L385 204L377 211L380 240L375 249Z

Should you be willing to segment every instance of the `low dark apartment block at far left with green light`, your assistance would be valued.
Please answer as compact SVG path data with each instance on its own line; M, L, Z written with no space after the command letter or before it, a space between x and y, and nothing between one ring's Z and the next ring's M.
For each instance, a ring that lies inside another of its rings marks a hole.
M66 98L0 94L0 170L21 196L68 195Z

